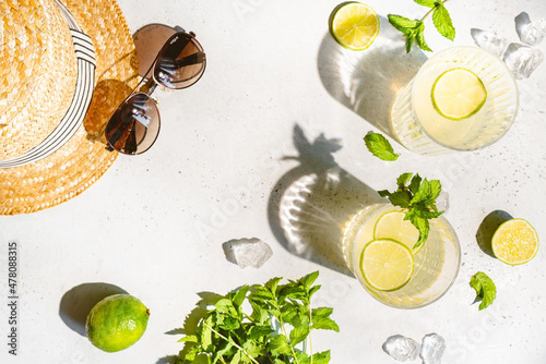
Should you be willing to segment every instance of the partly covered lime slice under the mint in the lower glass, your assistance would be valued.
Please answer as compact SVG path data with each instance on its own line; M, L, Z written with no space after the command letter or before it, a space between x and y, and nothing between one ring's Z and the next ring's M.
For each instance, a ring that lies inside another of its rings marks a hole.
M410 220L404 220L404 217L405 214L402 211L383 214L373 228L373 239L395 240L407 246L415 255L425 244L420 244L416 250L413 248L419 240L419 230Z

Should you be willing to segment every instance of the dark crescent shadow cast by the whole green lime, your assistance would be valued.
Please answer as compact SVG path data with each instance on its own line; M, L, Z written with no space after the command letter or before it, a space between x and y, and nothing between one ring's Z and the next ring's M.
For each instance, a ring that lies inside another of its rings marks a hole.
M128 293L109 283L83 283L63 294L59 305L59 316L75 332L87 336L85 320L91 308L103 299L118 293Z

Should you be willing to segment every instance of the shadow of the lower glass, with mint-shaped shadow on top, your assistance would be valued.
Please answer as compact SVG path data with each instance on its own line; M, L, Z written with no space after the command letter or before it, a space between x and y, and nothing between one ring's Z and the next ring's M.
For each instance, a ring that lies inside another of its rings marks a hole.
M312 144L294 128L299 166L285 173L272 190L270 227L292 254L353 277L341 250L346 221L364 207L381 202L377 192L343 170L332 153L341 145L320 135Z

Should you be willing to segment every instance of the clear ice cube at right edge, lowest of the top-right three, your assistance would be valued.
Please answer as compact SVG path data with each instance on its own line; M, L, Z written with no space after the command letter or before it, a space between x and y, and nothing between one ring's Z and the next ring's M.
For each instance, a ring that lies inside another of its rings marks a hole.
M544 54L539 49L515 43L508 46L503 58L517 80L529 78L543 60Z

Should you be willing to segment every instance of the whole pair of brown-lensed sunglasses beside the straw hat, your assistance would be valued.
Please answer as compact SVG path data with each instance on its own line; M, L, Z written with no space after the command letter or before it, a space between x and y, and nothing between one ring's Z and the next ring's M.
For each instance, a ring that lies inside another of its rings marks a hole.
M106 124L108 150L126 155L146 151L159 134L159 109L152 98L157 85L182 89L201 78L206 65L203 47L192 32L177 32L162 47L152 66Z

